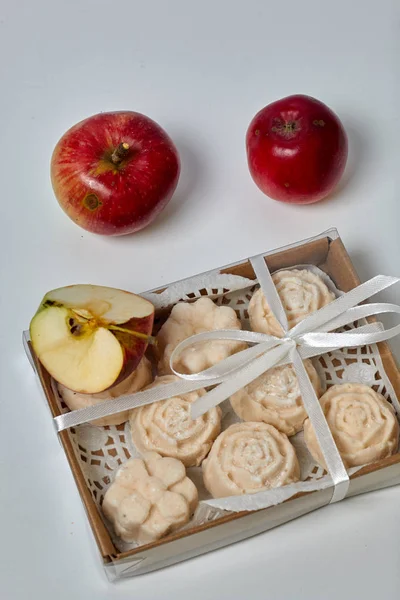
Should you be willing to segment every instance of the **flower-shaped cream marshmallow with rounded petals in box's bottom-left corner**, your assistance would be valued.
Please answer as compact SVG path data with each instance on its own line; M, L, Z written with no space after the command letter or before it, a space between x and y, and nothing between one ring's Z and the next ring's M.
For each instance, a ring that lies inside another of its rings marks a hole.
M103 513L126 542L148 544L187 523L198 504L183 464L147 452L117 471L103 500Z

